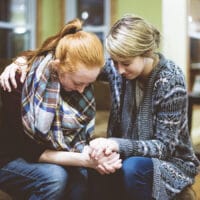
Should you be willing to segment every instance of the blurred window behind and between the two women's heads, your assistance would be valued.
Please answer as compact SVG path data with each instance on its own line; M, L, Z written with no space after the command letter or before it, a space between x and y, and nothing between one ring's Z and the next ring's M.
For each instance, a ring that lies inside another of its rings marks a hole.
M66 0L66 21L76 17L84 21L84 30L103 42L110 25L110 0Z

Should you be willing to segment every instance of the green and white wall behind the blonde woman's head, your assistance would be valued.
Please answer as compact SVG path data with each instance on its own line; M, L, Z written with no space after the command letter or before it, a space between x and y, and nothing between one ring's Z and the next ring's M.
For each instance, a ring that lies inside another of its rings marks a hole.
M188 0L117 0L116 16L133 13L154 24L162 34L160 51L175 61L187 77Z

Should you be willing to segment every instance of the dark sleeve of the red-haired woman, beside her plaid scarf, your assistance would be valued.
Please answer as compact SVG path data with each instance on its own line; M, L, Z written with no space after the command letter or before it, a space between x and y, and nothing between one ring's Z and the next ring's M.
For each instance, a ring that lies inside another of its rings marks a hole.
M12 92L1 93L0 123L0 167L16 158L23 158L29 162L37 162L45 147L37 144L23 131L21 122L21 91L22 84L17 76L18 87Z

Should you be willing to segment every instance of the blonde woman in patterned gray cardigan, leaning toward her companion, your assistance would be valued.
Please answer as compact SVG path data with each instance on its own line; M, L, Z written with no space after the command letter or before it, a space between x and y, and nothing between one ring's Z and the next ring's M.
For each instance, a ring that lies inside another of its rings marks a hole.
M194 182L199 161L188 133L185 78L157 52L159 43L159 31L133 15L119 19L106 38L111 60L101 78L111 85L109 138L91 141L91 156L117 152L123 163L111 175L94 172L96 200L174 199Z

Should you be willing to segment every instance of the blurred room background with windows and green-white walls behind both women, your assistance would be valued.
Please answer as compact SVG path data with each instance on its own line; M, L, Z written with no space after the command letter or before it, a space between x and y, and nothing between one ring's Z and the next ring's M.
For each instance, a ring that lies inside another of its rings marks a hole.
M200 96L199 10L200 0L0 0L0 70L19 52L37 48L75 17L104 43L111 25L124 14L133 13L160 30L160 51L183 69L188 92ZM109 91L97 88L98 109L107 111ZM192 106L192 111L191 136L199 144L200 106ZM103 114L105 119L108 114Z

